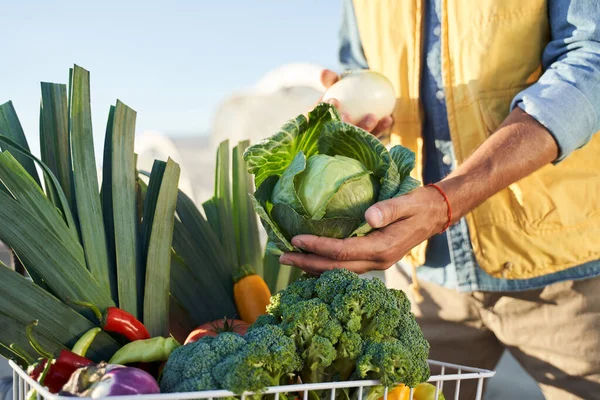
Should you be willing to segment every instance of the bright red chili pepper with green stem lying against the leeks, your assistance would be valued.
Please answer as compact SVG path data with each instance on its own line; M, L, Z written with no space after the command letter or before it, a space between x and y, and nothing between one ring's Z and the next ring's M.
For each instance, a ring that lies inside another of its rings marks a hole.
M89 308L100 321L100 327L107 332L114 332L125 336L129 341L150 339L148 329L137 318L127 311L117 307L108 307L104 313L98 307L85 301L73 301L70 303Z

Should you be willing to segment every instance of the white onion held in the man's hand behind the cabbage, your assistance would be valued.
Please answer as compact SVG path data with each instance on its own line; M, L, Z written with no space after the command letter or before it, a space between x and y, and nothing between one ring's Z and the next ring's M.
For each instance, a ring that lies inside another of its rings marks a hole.
M390 115L396 105L396 92L392 82L384 75L370 70L343 76L323 95L324 102L332 98L340 102L340 113L347 114L355 124L367 114L373 114L377 119Z

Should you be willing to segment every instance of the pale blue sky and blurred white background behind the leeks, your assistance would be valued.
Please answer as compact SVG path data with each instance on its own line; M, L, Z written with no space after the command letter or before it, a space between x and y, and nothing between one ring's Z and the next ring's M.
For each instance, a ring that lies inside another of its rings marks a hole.
M321 69L338 69L340 17L339 0L3 2L0 103L13 101L39 154L39 83L66 83L76 63L91 72L96 154L119 99L138 112L142 167L172 157L201 202L218 142L256 142L317 101ZM487 400L543 399L508 353L497 371Z

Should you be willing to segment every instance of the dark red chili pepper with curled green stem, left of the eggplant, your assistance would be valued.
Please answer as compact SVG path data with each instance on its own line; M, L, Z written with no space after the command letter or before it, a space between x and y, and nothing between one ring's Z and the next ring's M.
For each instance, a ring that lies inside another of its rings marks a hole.
M48 370L43 383L44 386L48 387L50 393L58 393L77 368L93 364L93 362L69 350L61 350L58 358L53 360L53 354L45 350L33 337L33 328L37 326L37 324L38 321L36 320L27 325L27 338L29 339L31 347L44 358L37 364L30 366L29 376L38 380L44 371L46 364L50 362L50 369Z

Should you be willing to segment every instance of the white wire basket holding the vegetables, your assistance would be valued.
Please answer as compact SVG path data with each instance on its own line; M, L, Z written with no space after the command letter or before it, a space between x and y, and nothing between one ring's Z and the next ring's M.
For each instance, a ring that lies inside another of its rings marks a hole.
M444 382L455 382L454 399L458 400L460 396L460 382L465 380L477 380L477 395L475 400L481 400L483 395L483 381L486 378L491 378L495 375L495 371L486 369L466 367L457 364L444 363L440 361L429 360L429 366L439 369L440 373L432 375L429 378L430 383L435 384L435 397L438 398L438 393L443 390ZM73 397L59 396L48 392L45 388L42 388L35 380L27 375L17 364L9 361L11 368L13 369L13 400L26 400L28 391L33 388L37 391L37 399L45 400L72 400ZM267 388L263 394L274 394L274 400L279 400L279 396L282 393L293 394L292 398L299 395L303 396L302 400L308 400L309 391L330 391L330 399L335 399L335 392L338 389L358 389L357 398L363 398L363 391L365 388L379 385L379 381L347 381L347 382L327 382L327 383L307 383L299 385L285 385L285 386L273 386ZM132 396L111 396L111 400L214 400L224 397L238 397L241 400L247 395L252 393L244 393L243 395L235 395L232 392L226 390L211 390L204 392L190 392L190 393L165 393L165 394L153 394L153 395L132 395ZM388 390L385 389L383 398L387 400ZM448 400L452 397L447 397ZM413 390L410 391L410 400L413 400Z

